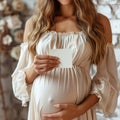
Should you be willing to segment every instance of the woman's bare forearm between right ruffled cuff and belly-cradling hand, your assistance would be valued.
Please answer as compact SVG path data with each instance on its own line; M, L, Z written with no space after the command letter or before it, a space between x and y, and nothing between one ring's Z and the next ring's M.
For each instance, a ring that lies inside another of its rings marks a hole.
M98 103L99 98L95 94L90 94L81 104L78 105L77 114L82 115Z

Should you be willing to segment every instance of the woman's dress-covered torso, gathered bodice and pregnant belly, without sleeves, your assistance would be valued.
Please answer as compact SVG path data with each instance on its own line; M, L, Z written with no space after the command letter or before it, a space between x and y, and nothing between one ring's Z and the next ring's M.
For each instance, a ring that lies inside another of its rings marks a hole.
M36 46L37 54L49 54L50 49L72 50L72 68L56 68L39 75L32 94L39 112L53 113L57 103L80 103L89 93L91 47L81 32L45 32Z

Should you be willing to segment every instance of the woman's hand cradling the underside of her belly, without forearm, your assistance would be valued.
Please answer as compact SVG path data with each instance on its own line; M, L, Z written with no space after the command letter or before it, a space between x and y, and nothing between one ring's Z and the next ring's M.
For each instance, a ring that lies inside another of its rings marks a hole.
M43 120L72 120L78 117L78 106L75 104L56 104L56 108L61 111L52 114L43 114Z

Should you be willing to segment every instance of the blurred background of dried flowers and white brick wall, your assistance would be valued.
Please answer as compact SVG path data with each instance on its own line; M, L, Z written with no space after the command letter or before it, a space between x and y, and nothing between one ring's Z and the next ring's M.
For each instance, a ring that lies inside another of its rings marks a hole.
M97 10L111 23L113 45L120 81L120 0L93 0ZM21 107L12 91L11 74L19 59L24 25L33 14L35 0L0 0L0 120L27 120L27 107ZM120 97L115 114L98 120L120 120Z

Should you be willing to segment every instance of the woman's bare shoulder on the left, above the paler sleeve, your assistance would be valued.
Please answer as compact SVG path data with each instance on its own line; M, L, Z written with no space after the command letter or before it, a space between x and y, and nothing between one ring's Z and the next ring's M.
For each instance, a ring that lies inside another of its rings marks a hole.
M25 23L25 29L24 29L24 36L23 36L23 41L26 42L28 41L28 35L33 31L34 29L34 22L36 21L37 17L31 16Z

